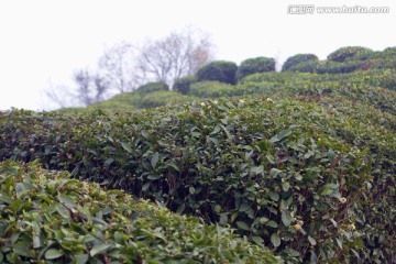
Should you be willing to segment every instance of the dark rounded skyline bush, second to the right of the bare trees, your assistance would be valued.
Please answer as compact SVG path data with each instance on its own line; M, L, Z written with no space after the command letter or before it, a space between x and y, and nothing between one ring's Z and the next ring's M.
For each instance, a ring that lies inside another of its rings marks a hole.
M268 57L248 58L241 63L237 70L237 79L241 80L248 75L275 70L275 59Z

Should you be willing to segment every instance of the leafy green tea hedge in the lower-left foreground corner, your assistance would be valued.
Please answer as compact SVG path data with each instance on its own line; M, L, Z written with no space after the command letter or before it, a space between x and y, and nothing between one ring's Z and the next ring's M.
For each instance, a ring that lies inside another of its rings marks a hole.
M279 263L230 229L37 164L0 163L1 263Z

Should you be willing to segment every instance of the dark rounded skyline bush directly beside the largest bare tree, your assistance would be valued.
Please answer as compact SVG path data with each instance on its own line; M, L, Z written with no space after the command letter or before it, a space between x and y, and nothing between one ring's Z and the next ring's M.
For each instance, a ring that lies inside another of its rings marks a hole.
M215 80L234 85L237 84L237 64L232 62L212 62L198 70L197 80Z

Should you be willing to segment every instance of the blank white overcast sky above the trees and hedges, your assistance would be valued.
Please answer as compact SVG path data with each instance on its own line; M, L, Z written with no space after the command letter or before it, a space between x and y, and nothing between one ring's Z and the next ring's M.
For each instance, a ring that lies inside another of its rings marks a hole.
M389 7L389 13L288 14L290 4ZM349 45L382 51L396 46L395 24L395 0L3 0L0 109L42 109L50 82L73 84L73 72L95 66L106 46L186 25L211 34L217 59L239 64L298 53L324 59Z

